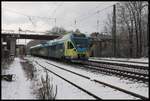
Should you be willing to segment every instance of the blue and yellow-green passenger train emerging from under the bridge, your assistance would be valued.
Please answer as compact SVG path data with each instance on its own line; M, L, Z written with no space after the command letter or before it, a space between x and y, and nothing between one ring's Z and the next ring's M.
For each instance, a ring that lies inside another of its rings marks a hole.
M65 60L88 60L89 39L83 34L70 33L45 44L30 47L30 54Z

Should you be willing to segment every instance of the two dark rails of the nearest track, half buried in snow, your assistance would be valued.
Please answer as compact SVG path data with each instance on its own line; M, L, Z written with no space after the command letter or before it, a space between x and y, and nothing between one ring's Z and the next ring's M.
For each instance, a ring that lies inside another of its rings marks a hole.
M84 91L85 93L89 94L90 96L92 96L92 97L94 97L94 98L96 98L96 99L103 99L102 97L99 97L99 95L97 95L97 94L95 94L95 93L92 93L91 91L88 91L87 89L85 89L85 88L79 86L78 84L76 84L76 83L74 83L74 82L72 82L72 81L66 79L65 77L63 77L63 76L57 74L56 72L50 70L49 68L47 68L47 67L41 65L41 64L38 63L37 61L36 61L36 63L37 63L38 65L40 65L41 67L43 67L44 69L46 69L47 71L53 73L54 75L60 77L61 79L67 81L68 83L72 84L73 86L75 86L75 87L79 88L80 90ZM85 76L85 75L76 73L76 72L71 71L71 70L68 70L68 69L64 69L64 68L62 68L62 67L60 67L60 66L57 66L57 65L52 64L52 63L49 63L49 62L46 62L46 63L47 63L47 64L50 64L50 65L52 65L52 66L54 66L55 69L56 69L56 67L57 67L57 69L59 69L59 70L63 70L63 71L66 71L66 72L70 72L71 74L78 75L78 76L80 76L80 77L82 77L82 78L85 78L85 79L90 80L90 77L88 77L88 76ZM111 89L115 89L115 90L118 90L118 91L120 91L120 92L122 92L122 93L125 93L125 94L127 94L127 95L133 96L133 97L135 97L135 98L148 99L147 97L144 97L144 96L142 96L142 95L136 94L136 93L134 93L134 92L127 91L127 90L125 90L125 89L116 87L116 86L114 86L114 85L111 85L111 84L108 84L108 83L105 83L105 82L102 82L102 81L99 81L99 80L93 80L93 81L96 82L96 83L98 83L98 84L100 84L100 85L104 85L104 86L107 86L107 87L109 87L109 88L111 88ZM90 81L90 82L93 82L93 81ZM105 88L105 89L106 89L106 88ZM112 92L112 93L113 93L113 92Z

